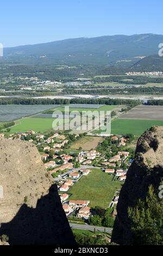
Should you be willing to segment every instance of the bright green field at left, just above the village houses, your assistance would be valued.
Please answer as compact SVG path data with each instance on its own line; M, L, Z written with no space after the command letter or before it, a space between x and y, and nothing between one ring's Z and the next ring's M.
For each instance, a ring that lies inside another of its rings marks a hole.
M10 133L24 133L28 130L34 130L35 132L47 132L52 129L52 123L54 118L24 118L17 120L17 125L11 127Z

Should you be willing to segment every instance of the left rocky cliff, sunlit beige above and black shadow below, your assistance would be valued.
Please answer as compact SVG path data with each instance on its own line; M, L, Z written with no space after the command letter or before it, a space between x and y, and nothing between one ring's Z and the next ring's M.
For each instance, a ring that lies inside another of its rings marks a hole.
M75 243L57 186L29 142L0 140L0 224L10 245Z

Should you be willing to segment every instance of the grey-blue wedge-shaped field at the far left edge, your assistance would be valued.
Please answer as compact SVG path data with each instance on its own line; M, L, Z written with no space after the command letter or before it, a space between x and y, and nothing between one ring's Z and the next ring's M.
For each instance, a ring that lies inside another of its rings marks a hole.
M21 117L34 115L60 105L1 105L0 122L9 122Z

